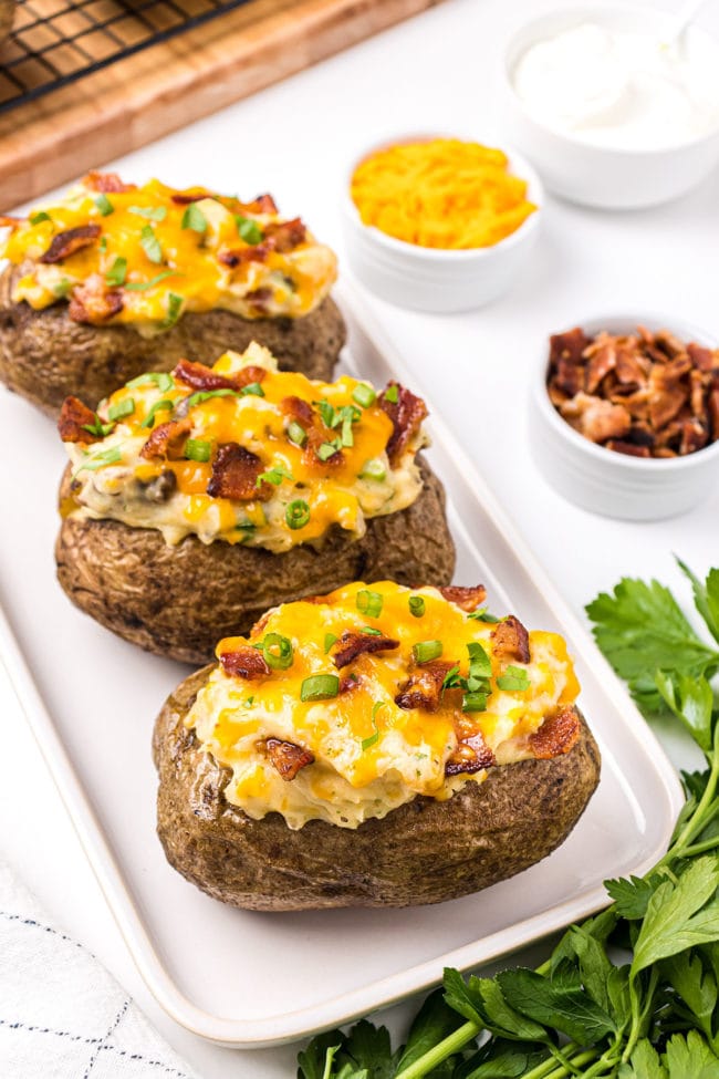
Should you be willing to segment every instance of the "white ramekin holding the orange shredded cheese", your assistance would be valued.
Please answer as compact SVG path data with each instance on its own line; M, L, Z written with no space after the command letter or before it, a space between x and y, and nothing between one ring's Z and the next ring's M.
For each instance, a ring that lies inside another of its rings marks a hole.
M383 300L415 311L471 311L508 291L534 246L542 214L542 185L531 165L506 146L501 149L509 158L510 172L527 180L527 197L538 209L498 243L467 251L441 251L396 240L363 224L350 194L352 176L361 162L378 149L400 143L458 137L466 136L423 132L385 138L358 154L347 169L342 194L347 262L359 281ZM472 136L472 141L479 139Z

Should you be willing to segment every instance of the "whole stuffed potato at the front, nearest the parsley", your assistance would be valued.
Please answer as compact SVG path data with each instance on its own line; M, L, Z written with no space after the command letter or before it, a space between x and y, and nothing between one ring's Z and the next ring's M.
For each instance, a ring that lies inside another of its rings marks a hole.
M221 641L155 726L170 864L290 911L438 903L550 854L600 754L562 637L483 595L355 583Z

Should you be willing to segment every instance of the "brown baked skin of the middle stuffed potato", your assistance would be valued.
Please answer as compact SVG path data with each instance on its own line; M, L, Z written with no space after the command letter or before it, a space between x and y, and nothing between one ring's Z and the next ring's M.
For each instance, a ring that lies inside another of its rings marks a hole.
M363 539L338 529L324 548L283 554L205 544L190 536L168 547L154 529L65 517L55 544L58 578L73 603L148 652L197 666L225 636L248 633L288 600L330 592L347 581L449 584L455 546L441 484L420 461L424 489L405 510L367 521ZM60 502L70 495L70 467Z

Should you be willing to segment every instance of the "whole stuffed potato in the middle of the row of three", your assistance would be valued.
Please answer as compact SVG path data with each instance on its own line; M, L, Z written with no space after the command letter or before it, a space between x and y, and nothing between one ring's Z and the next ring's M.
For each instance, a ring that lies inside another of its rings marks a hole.
M277 603L362 575L451 580L424 403L278 372L267 350L181 361L60 417L56 543L72 601L152 652L205 663Z

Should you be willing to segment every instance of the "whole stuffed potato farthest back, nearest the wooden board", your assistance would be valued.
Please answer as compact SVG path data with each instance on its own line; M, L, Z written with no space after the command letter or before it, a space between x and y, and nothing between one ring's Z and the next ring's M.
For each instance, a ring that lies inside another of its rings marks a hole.
M91 173L3 224L0 380L52 415L71 394L94 407L145 371L251 341L282 369L332 376L345 341L329 297L335 256L269 195L241 203Z

